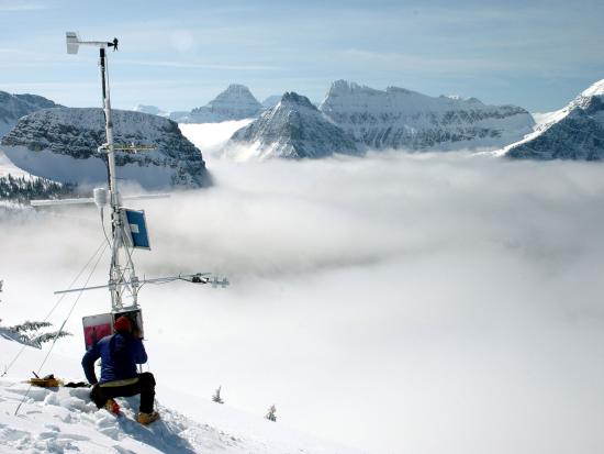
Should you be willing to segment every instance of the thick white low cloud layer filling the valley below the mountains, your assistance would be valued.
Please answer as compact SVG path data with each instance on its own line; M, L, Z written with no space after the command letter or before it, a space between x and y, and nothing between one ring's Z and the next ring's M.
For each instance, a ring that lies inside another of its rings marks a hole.
M136 202L141 274L232 281L143 290L161 387L222 385L228 405L276 403L281 423L370 452L604 449L602 165L380 153L209 168L211 189ZM92 208L0 228L4 322L49 309L102 241ZM79 355L79 319L108 306L86 295L59 353Z

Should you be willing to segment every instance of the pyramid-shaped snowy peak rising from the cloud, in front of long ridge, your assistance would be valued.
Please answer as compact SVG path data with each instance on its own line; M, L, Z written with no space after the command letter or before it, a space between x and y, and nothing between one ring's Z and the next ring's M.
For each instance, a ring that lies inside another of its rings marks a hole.
M299 159L358 153L351 137L321 113L309 98L294 92L284 93L277 106L235 132L227 148L242 144L250 146L259 158Z

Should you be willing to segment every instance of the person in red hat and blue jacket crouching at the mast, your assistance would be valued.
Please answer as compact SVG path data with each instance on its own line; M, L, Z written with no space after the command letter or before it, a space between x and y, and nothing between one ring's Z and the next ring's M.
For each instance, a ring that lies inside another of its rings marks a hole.
M147 362L147 353L137 330L133 330L131 320L122 315L115 320L115 333L96 342L83 355L81 365L86 378L92 385L90 398L98 408L111 412L119 410L115 397L141 395L137 420L149 424L159 419L154 411L155 378L152 373L136 372L137 364ZM94 362L101 358L101 380L97 380Z

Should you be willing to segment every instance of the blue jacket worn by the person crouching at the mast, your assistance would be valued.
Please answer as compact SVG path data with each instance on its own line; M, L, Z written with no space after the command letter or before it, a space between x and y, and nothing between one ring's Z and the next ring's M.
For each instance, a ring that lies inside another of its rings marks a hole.
M130 334L105 335L83 355L81 365L88 383L94 385L94 362L101 358L101 381L124 380L137 376L136 365L147 362L143 341Z

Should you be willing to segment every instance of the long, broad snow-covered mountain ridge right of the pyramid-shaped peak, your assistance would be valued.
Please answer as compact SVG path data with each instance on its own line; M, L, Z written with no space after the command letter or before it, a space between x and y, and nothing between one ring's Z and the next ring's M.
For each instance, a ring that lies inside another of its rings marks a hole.
M533 117L515 106L476 98L437 98L404 88L385 90L335 81L320 110L371 148L501 147L533 131Z

